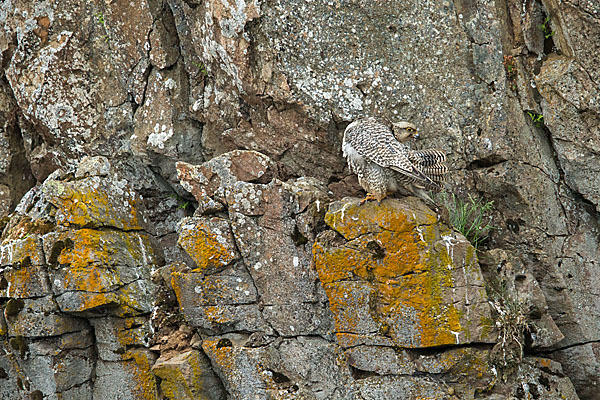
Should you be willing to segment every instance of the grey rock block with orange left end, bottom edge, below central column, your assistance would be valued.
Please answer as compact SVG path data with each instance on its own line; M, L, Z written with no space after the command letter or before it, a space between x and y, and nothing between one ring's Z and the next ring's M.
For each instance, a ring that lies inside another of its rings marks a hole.
M348 371L331 343L301 336L254 346L248 339L228 335L202 344L232 397L352 398L344 387Z

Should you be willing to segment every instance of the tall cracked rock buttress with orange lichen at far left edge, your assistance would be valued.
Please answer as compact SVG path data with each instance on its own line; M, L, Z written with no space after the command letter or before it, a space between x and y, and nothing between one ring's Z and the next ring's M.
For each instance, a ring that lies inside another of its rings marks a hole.
M95 161L82 162L79 179L52 174L3 232L0 293L12 358L3 368L21 381L10 398L157 398L155 357L138 347L149 343L158 258L140 196L107 173L106 159ZM116 397L107 390L119 386Z

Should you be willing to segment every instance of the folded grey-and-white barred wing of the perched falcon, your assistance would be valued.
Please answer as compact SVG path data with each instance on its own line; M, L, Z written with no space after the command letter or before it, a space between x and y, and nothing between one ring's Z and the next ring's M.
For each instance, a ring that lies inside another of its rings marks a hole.
M392 130L377 120L367 118L348 125L345 140L368 161L391 168L433 190L441 189L411 162L408 147L398 142Z

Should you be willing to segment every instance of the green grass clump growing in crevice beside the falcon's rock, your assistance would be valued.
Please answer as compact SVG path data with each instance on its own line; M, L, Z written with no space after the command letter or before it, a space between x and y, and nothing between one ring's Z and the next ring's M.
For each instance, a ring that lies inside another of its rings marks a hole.
M450 222L454 229L462 233L476 249L489 237L494 226L489 216L493 201L484 202L479 198L468 196L467 200L454 193L442 195L444 206L448 209Z

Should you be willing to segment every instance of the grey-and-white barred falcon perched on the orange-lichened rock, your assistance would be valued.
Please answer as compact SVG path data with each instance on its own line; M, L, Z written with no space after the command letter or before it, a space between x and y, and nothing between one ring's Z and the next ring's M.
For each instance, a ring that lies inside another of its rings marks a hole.
M344 131L342 150L350 171L367 191L364 201L380 202L390 192L408 189L435 205L427 190L439 192L448 172L440 150L411 150L406 142L418 137L409 122L387 123L376 118L352 122Z

